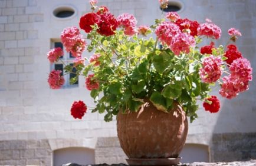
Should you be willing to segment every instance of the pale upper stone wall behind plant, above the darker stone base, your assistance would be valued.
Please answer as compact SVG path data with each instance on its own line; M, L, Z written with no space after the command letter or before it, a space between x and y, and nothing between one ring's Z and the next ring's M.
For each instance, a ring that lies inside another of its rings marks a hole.
M161 16L157 0L99 1L116 16L123 12L134 14L138 25L152 24ZM183 4L179 12L183 18L199 22L209 18L222 28L217 44L226 43L229 28L238 28L243 35L238 39L238 48L255 68L256 1L175 1ZM60 5L73 6L76 15L65 20L54 18L52 11ZM104 115L88 111L83 120L71 117L74 100L81 99L93 107L84 78L80 77L77 88L51 90L47 83L50 63L46 54L51 39L60 38L67 26L78 26L80 16L88 11L90 6L84 0L0 0L0 141L46 139L50 140L51 150L56 150L74 146L95 148L97 137L116 137L116 121L106 123ZM84 55L90 57L88 53ZM218 95L218 89L214 88L212 94ZM233 100L222 98L218 114L205 112L201 107L198 120L189 125L189 134L198 137L188 142L208 145L212 133L255 132L255 90L254 79L250 91Z

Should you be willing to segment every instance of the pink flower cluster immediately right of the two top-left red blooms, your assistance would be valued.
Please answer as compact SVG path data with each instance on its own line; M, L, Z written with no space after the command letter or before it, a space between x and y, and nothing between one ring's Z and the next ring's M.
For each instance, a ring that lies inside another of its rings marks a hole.
M124 28L124 34L132 36L136 34L136 18L131 14L122 14L117 16L117 24Z

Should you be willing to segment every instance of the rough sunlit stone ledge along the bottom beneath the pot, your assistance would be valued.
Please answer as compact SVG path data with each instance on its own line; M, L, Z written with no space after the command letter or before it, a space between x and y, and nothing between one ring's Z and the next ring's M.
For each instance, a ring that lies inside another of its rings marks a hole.
M186 164L179 164L177 166L255 166L256 160L250 161L234 161L234 162L193 162ZM95 165L79 165L79 164L65 164L63 166L128 166L126 164L95 164Z

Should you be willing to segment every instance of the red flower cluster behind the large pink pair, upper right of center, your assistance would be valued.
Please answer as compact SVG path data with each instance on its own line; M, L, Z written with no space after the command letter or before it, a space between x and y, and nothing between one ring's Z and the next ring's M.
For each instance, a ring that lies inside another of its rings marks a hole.
M185 19L178 19L175 22L176 25L179 26L180 31L187 31L189 29L191 36L197 36L198 35L198 27L199 24L197 21L191 21L187 18Z

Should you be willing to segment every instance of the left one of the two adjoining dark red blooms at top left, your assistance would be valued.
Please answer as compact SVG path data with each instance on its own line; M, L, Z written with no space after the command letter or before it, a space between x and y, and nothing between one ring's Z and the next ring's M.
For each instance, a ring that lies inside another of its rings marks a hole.
M86 33L90 33L93 28L91 28L92 25L97 24L100 21L100 16L94 13L88 13L80 18L80 28L84 29Z

